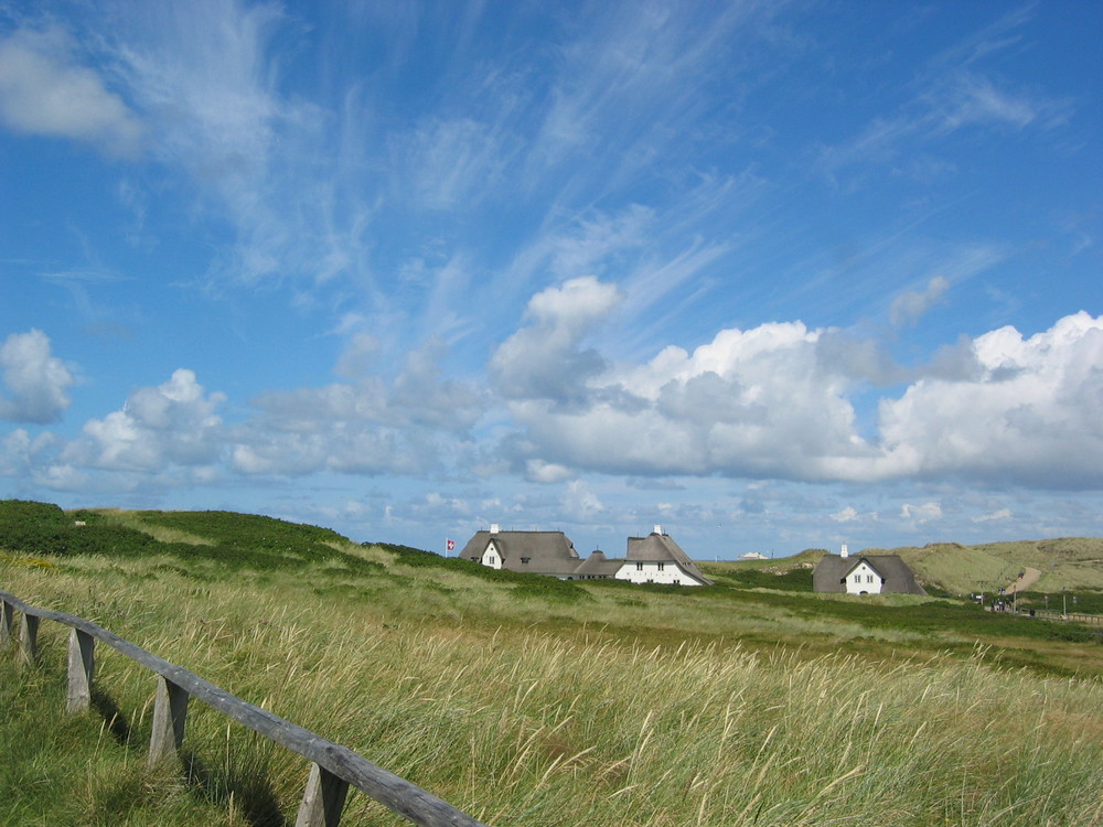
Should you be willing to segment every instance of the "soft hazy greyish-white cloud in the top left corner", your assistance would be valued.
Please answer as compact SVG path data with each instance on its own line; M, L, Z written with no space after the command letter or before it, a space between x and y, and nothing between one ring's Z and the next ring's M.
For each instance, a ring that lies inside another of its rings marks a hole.
M132 154L141 125L60 31L21 30L0 41L0 120L17 132L88 141Z

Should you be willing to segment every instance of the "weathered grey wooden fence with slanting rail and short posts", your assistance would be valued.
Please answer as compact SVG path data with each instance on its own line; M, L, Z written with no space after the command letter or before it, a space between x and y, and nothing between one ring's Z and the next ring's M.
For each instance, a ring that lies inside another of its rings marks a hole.
M248 704L83 617L38 609L0 591L0 641L11 642L17 611L22 616L18 642L20 658L25 665L33 665L38 658L40 621L56 621L72 630L66 696L69 712L79 712L90 706L96 641L157 675L153 733L149 747L151 766L175 758L184 738L188 701L194 697L312 762L296 827L336 827L350 785L424 827L484 827L447 802L373 764L347 747Z

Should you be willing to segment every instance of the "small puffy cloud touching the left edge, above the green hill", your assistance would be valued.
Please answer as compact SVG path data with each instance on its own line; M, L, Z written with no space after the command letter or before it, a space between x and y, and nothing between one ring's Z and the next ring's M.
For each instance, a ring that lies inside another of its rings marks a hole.
M12 333L0 345L0 419L15 422L53 422L69 406L72 372L52 355L50 337L40 330Z

